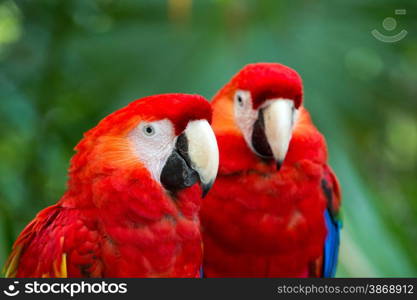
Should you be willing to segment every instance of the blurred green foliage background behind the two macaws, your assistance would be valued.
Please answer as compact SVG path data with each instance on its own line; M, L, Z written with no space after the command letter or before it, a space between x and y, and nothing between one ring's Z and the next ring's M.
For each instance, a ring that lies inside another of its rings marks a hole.
M416 16L414 0L0 1L0 265L100 119L150 94L211 98L271 61L303 77L342 185L338 276L417 276Z

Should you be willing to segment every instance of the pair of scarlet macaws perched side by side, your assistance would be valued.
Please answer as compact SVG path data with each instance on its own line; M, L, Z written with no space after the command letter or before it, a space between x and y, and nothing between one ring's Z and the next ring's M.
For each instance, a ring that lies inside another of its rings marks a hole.
M302 102L296 71L257 63L211 103L156 95L107 116L6 277L333 276L339 184Z

